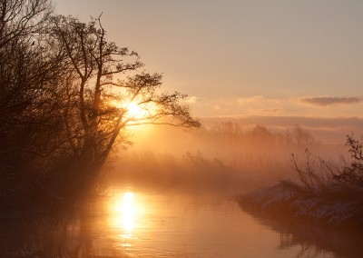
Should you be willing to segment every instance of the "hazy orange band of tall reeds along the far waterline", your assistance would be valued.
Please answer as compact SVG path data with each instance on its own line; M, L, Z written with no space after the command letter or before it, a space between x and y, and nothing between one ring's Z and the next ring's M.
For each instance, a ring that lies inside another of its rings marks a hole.
M241 152L227 159L201 152L186 152L182 156L129 152L113 165L111 178L113 183L240 193L287 174L288 163L264 154Z

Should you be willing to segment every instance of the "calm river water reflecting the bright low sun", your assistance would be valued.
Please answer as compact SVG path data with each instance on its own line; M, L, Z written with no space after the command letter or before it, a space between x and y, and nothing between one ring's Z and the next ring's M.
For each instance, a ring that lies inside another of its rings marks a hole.
M82 219L3 223L1 257L363 257L362 238L259 221L223 196L111 195Z

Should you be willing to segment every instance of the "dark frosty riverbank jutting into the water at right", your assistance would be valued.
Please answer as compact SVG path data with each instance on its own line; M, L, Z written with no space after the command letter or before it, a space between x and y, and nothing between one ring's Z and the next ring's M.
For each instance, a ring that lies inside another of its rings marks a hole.
M243 210L273 220L295 220L337 227L363 226L363 193L311 193L299 184L282 181L238 196Z

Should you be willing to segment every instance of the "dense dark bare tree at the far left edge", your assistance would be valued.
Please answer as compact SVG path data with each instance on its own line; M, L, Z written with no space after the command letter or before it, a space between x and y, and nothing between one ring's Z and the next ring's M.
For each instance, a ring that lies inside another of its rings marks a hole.
M0 200L17 194L28 203L23 195L52 188L50 175L66 162L66 64L46 40L51 13L47 0L0 1Z

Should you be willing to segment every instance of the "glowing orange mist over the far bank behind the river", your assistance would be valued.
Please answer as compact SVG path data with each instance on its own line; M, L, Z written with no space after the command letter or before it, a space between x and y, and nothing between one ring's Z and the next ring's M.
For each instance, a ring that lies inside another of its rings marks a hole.
M281 180L299 181L291 162L305 151L339 163L344 144L322 144L300 125L273 130L226 120L197 129L143 127L133 144L118 149L108 176L113 184L147 185L172 191L245 193ZM342 139L342 143L344 139Z

